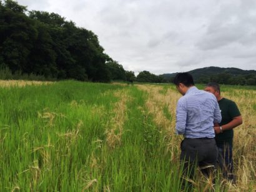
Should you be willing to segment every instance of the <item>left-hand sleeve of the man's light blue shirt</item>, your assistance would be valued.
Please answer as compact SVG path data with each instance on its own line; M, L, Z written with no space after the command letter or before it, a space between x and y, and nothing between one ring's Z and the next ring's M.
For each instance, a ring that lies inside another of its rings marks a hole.
M176 133L184 135L187 122L187 103L185 100L179 100L176 109Z

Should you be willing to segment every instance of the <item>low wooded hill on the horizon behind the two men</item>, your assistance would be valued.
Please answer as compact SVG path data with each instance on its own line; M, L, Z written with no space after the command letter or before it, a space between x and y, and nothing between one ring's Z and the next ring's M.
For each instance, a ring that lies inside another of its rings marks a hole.
M215 75L215 74L230 74L230 75L249 75L255 74L256 70L242 70L234 67L222 68L222 67L204 67L200 69L194 69L188 71L193 77L194 80L200 79L200 77ZM161 76L165 79L170 79L170 77L175 77L177 73L173 74L162 74Z

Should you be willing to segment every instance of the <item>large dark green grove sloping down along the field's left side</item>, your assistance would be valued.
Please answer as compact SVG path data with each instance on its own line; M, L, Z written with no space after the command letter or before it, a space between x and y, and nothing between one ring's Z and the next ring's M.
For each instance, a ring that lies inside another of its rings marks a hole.
M0 70L6 79L135 79L104 53L92 31L11 0L0 0Z

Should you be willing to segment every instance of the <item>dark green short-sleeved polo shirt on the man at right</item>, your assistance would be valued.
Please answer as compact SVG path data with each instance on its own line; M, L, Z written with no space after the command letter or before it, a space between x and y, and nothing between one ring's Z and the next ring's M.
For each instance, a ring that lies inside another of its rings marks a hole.
M232 100L227 98L222 98L219 100L220 113L222 120L221 125L225 125L233 120L234 117L240 116L239 108ZM234 137L233 130L226 130L223 133L219 133L215 136L215 140L218 146L223 145L224 143L230 143L232 145Z

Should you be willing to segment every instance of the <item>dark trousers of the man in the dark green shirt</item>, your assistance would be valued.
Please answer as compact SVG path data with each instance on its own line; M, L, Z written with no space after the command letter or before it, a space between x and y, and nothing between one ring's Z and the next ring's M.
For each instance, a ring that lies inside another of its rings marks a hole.
M218 145L218 150L219 168L222 170L224 178L235 182L233 173L232 145L230 143Z

